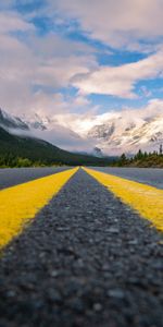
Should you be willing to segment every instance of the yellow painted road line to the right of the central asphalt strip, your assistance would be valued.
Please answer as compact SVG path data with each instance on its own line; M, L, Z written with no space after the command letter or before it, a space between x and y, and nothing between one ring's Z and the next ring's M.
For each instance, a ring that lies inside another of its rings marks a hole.
M163 190L92 169L84 170L163 231Z

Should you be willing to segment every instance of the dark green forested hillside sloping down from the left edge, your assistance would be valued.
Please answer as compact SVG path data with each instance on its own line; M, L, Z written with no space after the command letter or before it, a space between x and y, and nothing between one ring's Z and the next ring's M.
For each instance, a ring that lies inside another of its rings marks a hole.
M72 154L48 142L12 135L0 128L0 167L109 166L112 160Z

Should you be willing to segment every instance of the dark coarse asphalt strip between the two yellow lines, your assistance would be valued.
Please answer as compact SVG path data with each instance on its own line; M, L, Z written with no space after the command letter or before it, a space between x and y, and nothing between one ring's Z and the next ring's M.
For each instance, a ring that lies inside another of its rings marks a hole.
M162 233L73 173L3 249L0 327L163 326Z

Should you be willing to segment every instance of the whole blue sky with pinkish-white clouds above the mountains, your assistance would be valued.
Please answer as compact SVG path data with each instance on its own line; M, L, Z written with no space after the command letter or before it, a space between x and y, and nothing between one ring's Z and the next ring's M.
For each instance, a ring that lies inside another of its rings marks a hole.
M163 105L162 0L0 1L0 107L72 128L152 104Z

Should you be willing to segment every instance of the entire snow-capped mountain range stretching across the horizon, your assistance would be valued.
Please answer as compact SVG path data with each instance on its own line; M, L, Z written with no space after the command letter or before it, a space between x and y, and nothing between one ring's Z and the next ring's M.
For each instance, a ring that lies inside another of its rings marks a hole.
M0 125L14 134L28 134L68 150L93 152L96 156L134 154L139 148L158 150L163 143L163 112L118 111L71 122L66 117L59 121L57 116L37 113L13 117L0 109Z

